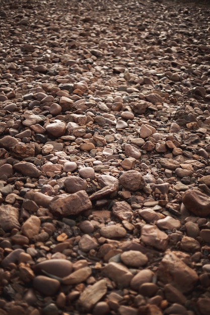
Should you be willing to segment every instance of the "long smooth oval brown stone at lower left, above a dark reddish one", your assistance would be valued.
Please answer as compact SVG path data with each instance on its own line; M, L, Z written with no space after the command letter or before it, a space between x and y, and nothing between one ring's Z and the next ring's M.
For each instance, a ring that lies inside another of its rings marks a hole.
M72 273L73 264L67 259L49 259L34 266L35 273L63 278Z

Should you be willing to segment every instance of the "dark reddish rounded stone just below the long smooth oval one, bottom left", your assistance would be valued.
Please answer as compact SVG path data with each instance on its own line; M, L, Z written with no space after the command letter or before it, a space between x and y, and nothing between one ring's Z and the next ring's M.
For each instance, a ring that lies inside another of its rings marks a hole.
M58 291L60 282L56 279L48 278L46 276L37 276L33 280L33 287L41 294L51 296Z

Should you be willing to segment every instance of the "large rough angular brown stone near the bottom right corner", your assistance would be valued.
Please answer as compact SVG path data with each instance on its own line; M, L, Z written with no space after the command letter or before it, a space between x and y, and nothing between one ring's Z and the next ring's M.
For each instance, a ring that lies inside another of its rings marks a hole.
M190 292L198 281L197 273L168 250L158 268L158 277L163 283L170 283L182 293Z

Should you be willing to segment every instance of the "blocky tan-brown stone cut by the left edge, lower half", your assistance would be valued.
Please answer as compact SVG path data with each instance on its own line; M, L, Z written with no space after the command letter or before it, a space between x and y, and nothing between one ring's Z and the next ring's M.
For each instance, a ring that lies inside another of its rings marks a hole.
M12 205L1 205L0 227L4 231L11 231L13 228L20 229L19 210Z

